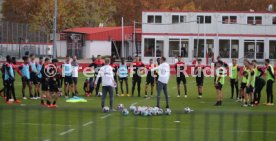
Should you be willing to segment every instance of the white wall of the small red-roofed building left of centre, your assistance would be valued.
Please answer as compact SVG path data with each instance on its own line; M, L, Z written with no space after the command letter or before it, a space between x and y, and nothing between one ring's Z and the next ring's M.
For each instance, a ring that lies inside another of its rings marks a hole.
M91 58L93 55L111 55L110 41L86 41L82 50L83 58Z

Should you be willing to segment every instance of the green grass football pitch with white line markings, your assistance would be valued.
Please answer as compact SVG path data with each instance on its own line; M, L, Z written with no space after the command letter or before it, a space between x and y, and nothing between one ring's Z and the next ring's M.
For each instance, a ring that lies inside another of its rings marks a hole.
M83 96L79 78L78 91ZM145 78L142 80L144 96ZM2 82L0 82L2 87ZM131 79L129 80L131 88ZM6 105L0 101L0 140L271 140L276 139L276 106L241 107L230 99L229 81L223 87L223 106L215 107L216 101L213 78L205 78L203 98L197 99L195 78L187 78L188 98L177 98L175 76L169 82L170 116L122 116L119 112L103 113L99 97L87 98L87 103L70 104L59 99L56 109L41 108L39 100L22 100L21 105ZM21 98L21 81L17 77L16 95ZM129 89L131 90L131 89ZM275 92L274 87L274 92ZM26 90L26 94L28 94ZM162 95L161 106L165 107ZM262 102L266 101L265 88ZM135 97L115 97L114 107L124 104L127 108L155 106L156 91L150 99ZM108 104L108 98L106 99ZM183 112L184 107L195 110L191 114Z

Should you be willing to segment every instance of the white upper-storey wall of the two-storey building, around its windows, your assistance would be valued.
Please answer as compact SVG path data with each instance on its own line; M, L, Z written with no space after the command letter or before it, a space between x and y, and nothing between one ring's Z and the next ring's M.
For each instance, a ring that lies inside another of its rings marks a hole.
M147 24L148 15L161 15L162 24ZM172 24L172 15L185 15L187 23ZM211 24L197 24L197 16L212 17ZM237 16L238 24L222 24L222 16ZM247 25L248 16L262 16L262 25ZM263 34L275 35L272 25L276 13L208 13L208 12L143 12L143 33L171 34Z

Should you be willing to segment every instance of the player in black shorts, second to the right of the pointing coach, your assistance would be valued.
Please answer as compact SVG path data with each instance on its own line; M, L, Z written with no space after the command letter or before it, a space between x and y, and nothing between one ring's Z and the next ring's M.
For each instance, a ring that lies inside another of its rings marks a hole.
M204 70L204 66L202 65L202 60L197 59L197 65L195 66L195 75L196 75L198 98L202 98L202 94L203 94L203 83L204 83L203 70Z

